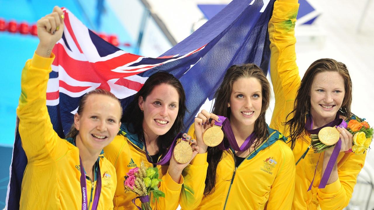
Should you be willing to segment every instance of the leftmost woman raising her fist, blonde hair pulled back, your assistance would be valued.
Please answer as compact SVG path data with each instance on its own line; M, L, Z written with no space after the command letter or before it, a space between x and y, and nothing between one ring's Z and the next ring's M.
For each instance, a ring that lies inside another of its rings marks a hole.
M61 39L64 14L59 7L37 22L39 44L21 76L17 108L19 135L27 156L20 209L113 209L116 171L102 149L119 131L122 108L112 93L96 89L80 100L71 138L53 130L46 90ZM108 174L111 179L104 177Z

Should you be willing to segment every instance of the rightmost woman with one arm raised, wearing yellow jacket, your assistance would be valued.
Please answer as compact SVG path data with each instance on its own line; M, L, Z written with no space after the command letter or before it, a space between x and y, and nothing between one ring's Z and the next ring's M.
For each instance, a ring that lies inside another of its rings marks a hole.
M270 126L288 136L295 156L296 187L292 209L343 209L352 197L366 155L351 152L353 136L344 126L338 126L338 122L359 119L350 110L349 72L341 62L319 59L310 65L300 81L294 36L297 0L276 1L274 10L269 23L270 73L275 93ZM334 126L338 126L340 133L340 151L335 146L335 152L332 147L319 154L313 153L309 136L324 127ZM330 159L336 161L329 163Z

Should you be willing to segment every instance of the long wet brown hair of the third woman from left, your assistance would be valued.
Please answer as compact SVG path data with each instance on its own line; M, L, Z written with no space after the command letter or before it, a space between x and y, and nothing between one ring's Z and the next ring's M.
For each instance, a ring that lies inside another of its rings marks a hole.
M225 117L230 117L231 109L227 107L227 104L230 102L230 96L233 90L233 84L235 81L239 80L240 78L256 78L261 84L261 95L262 95L262 106L261 112L258 118L254 123L254 131L256 133L257 141L254 142L254 146L259 145L269 136L267 124L265 121L265 112L266 109L269 107L270 103L270 84L267 80L263 70L260 69L255 64L245 64L242 66L233 65L231 66L224 78L223 81L218 88L217 92L215 92L214 98L215 103L213 106L213 113L217 115L222 115ZM226 135L224 136L224 142L228 143ZM251 139L253 142L255 139ZM223 151L220 150L217 146L215 147L208 147L208 171L206 173L205 179L205 189L204 195L209 195L214 192L215 190L215 181L216 181L216 171L218 163L222 158Z

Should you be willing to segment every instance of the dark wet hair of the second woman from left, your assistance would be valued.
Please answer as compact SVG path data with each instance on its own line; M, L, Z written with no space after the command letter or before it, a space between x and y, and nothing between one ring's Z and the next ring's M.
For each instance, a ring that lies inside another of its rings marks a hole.
M171 126L170 130L164 135L159 136L157 139L157 144L160 146L161 153L165 155L166 149L169 148L173 142L175 136L183 130L183 119L184 114L187 111L186 108L186 95L184 94L184 89L181 82L175 78L172 74L169 74L166 71L158 71L152 74L147 81L145 81L143 87L135 94L133 100L126 107L125 112L122 116L122 123L127 126L130 133L138 135L138 140L142 142L144 139L144 130L143 130L143 120L144 114L139 107L139 97L142 96L145 101L152 92L152 90L161 84L168 84L174 87L179 95L179 105L178 105L178 114L177 118L174 121L174 124Z

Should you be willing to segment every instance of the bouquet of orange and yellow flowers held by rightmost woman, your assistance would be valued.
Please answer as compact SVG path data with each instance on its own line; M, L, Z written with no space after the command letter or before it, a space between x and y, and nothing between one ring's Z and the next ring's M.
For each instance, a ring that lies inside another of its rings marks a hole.
M360 119L358 117L352 116L351 119L348 121L346 129L349 133L353 135L353 146L348 152L354 152L356 155L363 154L370 146L371 140L373 138L373 128L369 126L369 124L365 121L365 119ZM336 130L336 129L335 129ZM322 131L322 130L321 130ZM321 132L320 131L320 132ZM335 132L334 130L332 130ZM328 133L329 136L337 135L339 136L337 130L335 133ZM320 153L325 151L326 149L331 148L335 145L326 145L325 143L321 142L321 134L312 134L310 135L311 144L314 150L314 153Z

